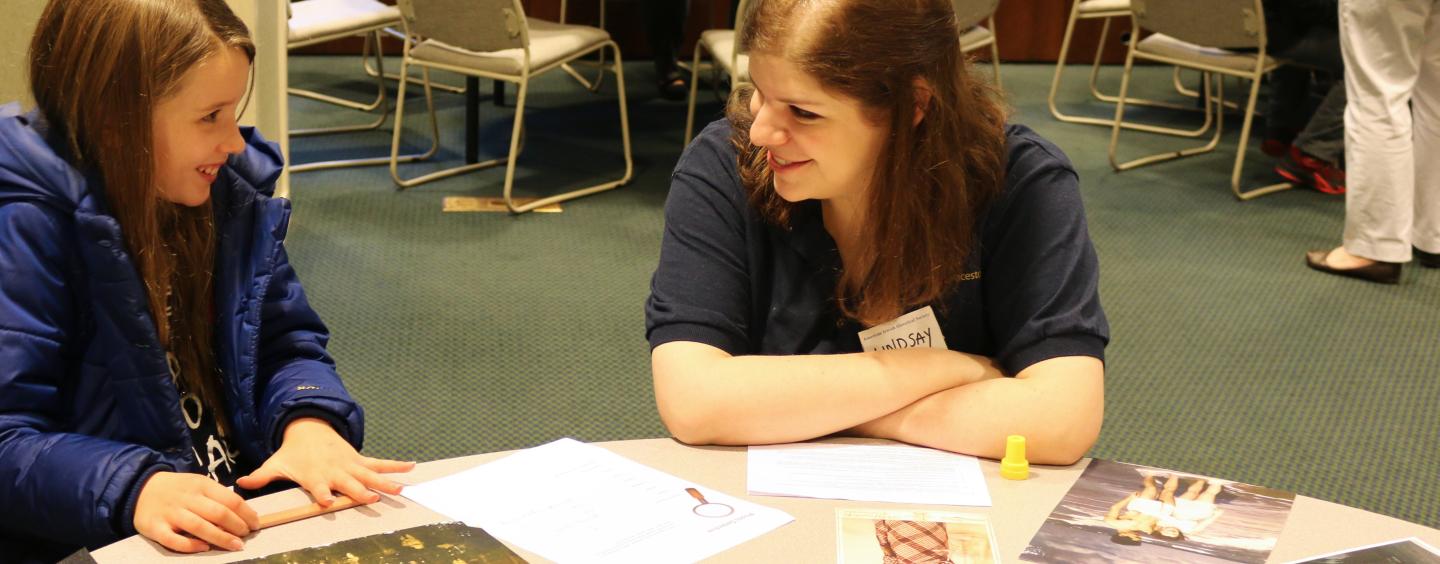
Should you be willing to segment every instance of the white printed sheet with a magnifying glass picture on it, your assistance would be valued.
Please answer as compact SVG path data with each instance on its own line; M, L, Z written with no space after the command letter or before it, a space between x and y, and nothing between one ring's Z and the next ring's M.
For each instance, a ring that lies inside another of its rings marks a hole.
M557 563L697 561L795 521L573 439L403 495Z

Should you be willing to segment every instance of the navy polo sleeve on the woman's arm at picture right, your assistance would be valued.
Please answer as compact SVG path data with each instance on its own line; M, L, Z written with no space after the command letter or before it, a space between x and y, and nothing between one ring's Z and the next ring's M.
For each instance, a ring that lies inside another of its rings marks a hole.
M1070 161L1025 127L1008 128L1005 193L981 235L985 314L1008 374L1057 357L1104 360L1100 265Z

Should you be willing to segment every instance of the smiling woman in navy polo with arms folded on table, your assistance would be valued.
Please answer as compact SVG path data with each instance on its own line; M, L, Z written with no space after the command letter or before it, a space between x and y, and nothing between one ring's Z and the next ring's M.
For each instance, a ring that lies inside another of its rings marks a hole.
M753 85L674 171L647 302L671 433L1081 458L1109 325L1079 180L950 1L752 0L739 42Z

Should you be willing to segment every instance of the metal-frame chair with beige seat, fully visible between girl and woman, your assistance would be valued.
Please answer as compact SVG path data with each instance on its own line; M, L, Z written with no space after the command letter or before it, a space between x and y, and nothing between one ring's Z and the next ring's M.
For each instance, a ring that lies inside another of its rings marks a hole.
M435 145L439 145L439 124L435 119L435 101L431 94L431 69L514 82L520 89L516 95L510 151L504 157L415 178L402 178L399 171L400 129L405 124L405 98L400 98L396 105L395 132L390 138L390 177L402 190L504 163L505 207L513 213L524 213L629 183L634 176L634 161L631 160L629 114L625 106L625 69L621 49L611 40L609 33L589 26L527 19L520 0L400 0L399 4L405 35L409 37L405 42L400 62L400 89L403 91L409 81L410 66L419 66L425 82L425 104L431 108L431 135ZM615 53L615 62L608 69L615 73L618 88L625 174L619 180L516 204L511 188L514 187L516 157L520 151L530 78L563 68L575 59L606 47ZM539 58L534 58L536 50L539 50Z

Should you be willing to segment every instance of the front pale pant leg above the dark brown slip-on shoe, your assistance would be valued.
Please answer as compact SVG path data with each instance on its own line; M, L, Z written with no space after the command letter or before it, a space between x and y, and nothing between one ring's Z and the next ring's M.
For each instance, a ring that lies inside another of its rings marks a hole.
M1416 154L1410 98L1437 0L1341 0L1345 56L1345 250L1410 260ZM1433 158L1433 157L1430 157Z

